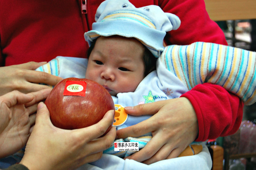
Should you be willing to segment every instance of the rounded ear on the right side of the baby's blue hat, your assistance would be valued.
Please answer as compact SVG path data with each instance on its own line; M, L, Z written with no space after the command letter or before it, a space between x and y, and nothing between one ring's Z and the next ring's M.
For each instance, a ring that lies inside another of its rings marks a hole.
M166 14L166 16L169 20L167 21L167 23L163 24L163 26L161 28L161 31L168 32L168 31L171 31L171 30L178 29L179 26L180 26L180 23L181 23L179 17L172 14L172 13L165 12L165 14Z

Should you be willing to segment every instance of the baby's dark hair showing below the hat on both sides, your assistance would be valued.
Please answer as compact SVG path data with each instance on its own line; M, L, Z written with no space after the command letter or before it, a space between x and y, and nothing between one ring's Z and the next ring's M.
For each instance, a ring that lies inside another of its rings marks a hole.
M96 40L94 40L92 42L91 46L89 47L89 49L87 51L87 59L89 59L90 54L93 51ZM143 47L144 47L143 61L144 61L144 65L145 65L144 77L146 77L149 73L151 73L152 71L154 71L156 69L156 60L157 60L157 58L154 57L154 55L150 52L149 49L146 48L145 45L143 45Z

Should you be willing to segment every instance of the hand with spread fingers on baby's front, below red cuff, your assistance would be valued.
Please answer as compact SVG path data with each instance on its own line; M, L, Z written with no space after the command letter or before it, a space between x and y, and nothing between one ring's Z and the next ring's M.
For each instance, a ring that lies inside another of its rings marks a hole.
M150 142L142 150L126 157L128 159L151 164L176 158L198 135L195 110L185 97L125 109L126 113L134 116L154 114L145 121L117 131L118 138L152 133Z

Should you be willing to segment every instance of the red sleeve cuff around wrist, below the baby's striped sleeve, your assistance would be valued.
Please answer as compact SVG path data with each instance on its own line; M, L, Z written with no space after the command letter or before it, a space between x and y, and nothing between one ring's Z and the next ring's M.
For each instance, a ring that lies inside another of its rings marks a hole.
M223 87L204 83L181 97L186 97L195 109L199 136L196 141L234 134L243 118L243 103Z

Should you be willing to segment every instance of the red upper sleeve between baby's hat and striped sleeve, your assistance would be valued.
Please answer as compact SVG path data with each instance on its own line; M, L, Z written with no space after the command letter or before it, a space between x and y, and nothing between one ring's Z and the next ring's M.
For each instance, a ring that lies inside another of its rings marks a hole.
M167 33L167 45L189 45L197 41L228 45L221 28L210 19L204 0L159 0L159 6L181 20L177 30Z

